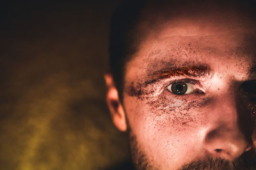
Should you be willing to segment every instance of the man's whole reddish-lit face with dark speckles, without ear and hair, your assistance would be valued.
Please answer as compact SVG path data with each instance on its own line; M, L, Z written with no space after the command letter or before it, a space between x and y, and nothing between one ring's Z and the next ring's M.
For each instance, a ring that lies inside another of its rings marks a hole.
M244 18L141 24L148 34L126 64L123 105L137 164L178 169L254 152L256 27Z

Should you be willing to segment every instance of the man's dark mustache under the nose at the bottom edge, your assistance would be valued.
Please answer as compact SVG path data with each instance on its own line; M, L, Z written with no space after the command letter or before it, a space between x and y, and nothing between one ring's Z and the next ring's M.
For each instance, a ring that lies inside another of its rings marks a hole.
M179 170L256 170L256 160L239 157L230 162L221 158L205 157L203 160L195 160L180 167Z

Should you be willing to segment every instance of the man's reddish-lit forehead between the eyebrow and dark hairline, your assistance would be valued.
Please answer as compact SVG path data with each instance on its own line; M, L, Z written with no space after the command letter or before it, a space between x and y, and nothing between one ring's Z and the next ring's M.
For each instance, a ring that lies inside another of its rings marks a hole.
M252 67L255 60L256 26L252 15L237 10L202 13L151 13L144 11L139 25L143 38L138 52L127 63L146 74L164 65L207 64ZM169 17L168 17L169 16ZM145 19L143 19L145 18ZM229 61L234 62L227 64ZM144 69L143 69L144 68ZM227 68L226 68L227 69Z

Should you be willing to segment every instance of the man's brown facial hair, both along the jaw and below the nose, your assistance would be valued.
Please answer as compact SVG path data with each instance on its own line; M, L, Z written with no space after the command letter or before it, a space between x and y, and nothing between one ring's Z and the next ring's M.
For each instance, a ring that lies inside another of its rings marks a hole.
M160 169L153 161L148 159L147 155L141 149L136 136L129 131L131 145L131 155L134 166L138 170L142 169ZM252 156L253 155L253 156ZM225 159L214 159L211 155L206 155L204 159L194 160L188 164L180 166L179 170L256 170L256 159L254 152L243 154L233 162Z

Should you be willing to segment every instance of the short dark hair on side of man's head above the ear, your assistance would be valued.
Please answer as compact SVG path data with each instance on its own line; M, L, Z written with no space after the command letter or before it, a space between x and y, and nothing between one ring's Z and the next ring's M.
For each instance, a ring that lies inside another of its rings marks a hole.
M137 49L133 31L138 25L138 18L145 1L122 1L113 13L109 32L109 65L116 89L122 101L124 85L124 65L129 56Z

